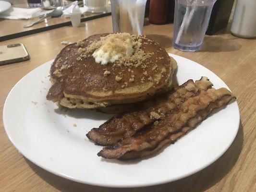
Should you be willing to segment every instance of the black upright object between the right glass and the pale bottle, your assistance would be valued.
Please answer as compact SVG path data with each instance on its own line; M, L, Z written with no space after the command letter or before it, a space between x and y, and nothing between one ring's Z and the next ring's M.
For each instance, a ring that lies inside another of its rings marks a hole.
M227 26L234 0L217 0L212 8L207 35L213 35Z

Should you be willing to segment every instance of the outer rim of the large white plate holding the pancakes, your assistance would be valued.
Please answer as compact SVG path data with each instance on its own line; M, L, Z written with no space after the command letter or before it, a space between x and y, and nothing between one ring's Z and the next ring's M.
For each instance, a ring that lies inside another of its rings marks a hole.
M189 62L192 62L193 64L199 64L199 63L197 63L197 62L195 62L195 61L193 61L193 60L189 60L189 59L187 59L187 58L185 58L185 57L181 57L181 56L178 56L178 55L175 55L175 54L170 54L170 53L168 53L168 54L169 54L169 56L171 56L171 57L174 56L174 57L178 57L178 58L183 59L183 60L188 60ZM21 81L23 81L23 79L24 79L27 75L29 75L31 72L33 72L34 70L36 70L36 69L42 67L43 65L48 64L48 63L53 62L53 61L54 61L54 59L53 59L53 60L49 60L49 61L47 61L47 62L45 62L45 63L39 65L38 67L36 67L36 68L33 69L32 71L30 71L30 72L28 72L26 75L24 75L24 77L22 77L22 78L12 87L12 89L10 90L10 92L9 92L8 96L6 97L5 102L4 102L3 112L2 112L2 119L3 119L3 126L4 126L4 130L5 130L6 134L7 134L8 138L10 139L11 143L14 145L14 147L18 150L19 153L21 153L25 158L27 158L27 159L28 159L29 161L31 161L32 163L36 164L38 167L43 168L43 169L49 171L50 173L55 174L55 175L57 175L57 176L60 176L60 177L62 177L62 178L65 178L65 179L68 179L68 180L73 180L73 181L79 182L79 183L84 183L84 184L87 184L87 185L100 186L100 187L112 187L112 188L147 187L147 186L154 186L154 185L159 185L159 184L164 184L164 183L172 182L172 181L175 181L175 180L180 180L180 179L186 178L186 177L188 177L188 176L190 176L190 175L193 175L193 174L195 174L196 172L198 172L198 171L200 171L200 170L203 170L204 168L207 168L209 165L211 165L212 163L214 163L215 161L217 161L217 160L219 159L219 157L222 156L222 155L229 149L229 147L230 147L231 144L233 143L233 141L234 141L234 139L235 139L235 137L236 137L236 135L237 135L237 132L238 132L238 130L239 130L239 127L240 127L240 110L239 110L237 101L234 101L234 103L236 104L236 107L237 107L237 109L238 109L238 119L237 119L238 125L237 125L237 127L236 127L236 133L234 134L234 136L233 136L233 138L232 138L232 142L230 142L230 144L228 144L228 145L221 151L221 153L219 153L218 156L216 156L215 158L213 158L213 160L209 161L209 162L208 162L207 164L205 164L204 166L202 166L202 167L200 167L200 168L197 168L197 169L195 169L195 170L193 170L193 171L191 171L191 172L188 172L188 173L186 173L186 174L183 174L183 175L181 175L181 176L175 177L175 178L173 178L173 179L166 179L166 180L155 181L155 182L153 181L153 182L145 183L145 184L130 184L130 185L123 185L123 184L120 184L120 185L119 185L118 183L117 183L117 184L111 184L111 183L110 183L110 184L104 184L104 183L97 183L97 182L91 182L91 181L85 181L85 180L81 180L81 179L76 179L76 178L73 178L73 177L71 177L71 176L68 176L68 175L65 175L65 174L63 174L63 173L60 173L60 172L58 172L58 171L51 170L51 169L49 169L49 168L46 168L46 166L44 166L44 165L42 165L42 164L40 164L40 163L36 163L35 161L33 161L33 160L29 157L28 154L25 154L22 150L20 150L20 147L18 146L18 144L15 143L15 141L12 139L12 137L11 137L11 135L10 135L11 133L8 131L8 128L7 128L8 126L7 126L7 124L6 124L6 118L7 118L7 117L6 117L4 114L6 113L6 112L5 112L5 111L6 111L6 102L7 102L8 98L9 98L9 96L11 95L11 93L13 92L13 90L15 89L15 87L18 86L18 84L19 84ZM199 65L201 65L201 64L199 64ZM205 66L203 66L203 65L201 65L201 67L207 69L207 68L206 68ZM210 71L209 69L207 69L207 70ZM210 71L210 72L211 72L211 71ZM215 74L214 72L212 72L212 73ZM217 74L215 74L215 75L219 78L219 76L218 76ZM222 81L221 78L219 78L219 79ZM223 82L223 81L222 81L222 83L225 84L225 82ZM227 86L227 84L225 84L225 85ZM227 86L227 87L228 87L228 86ZM228 87L228 89L230 90L229 87Z

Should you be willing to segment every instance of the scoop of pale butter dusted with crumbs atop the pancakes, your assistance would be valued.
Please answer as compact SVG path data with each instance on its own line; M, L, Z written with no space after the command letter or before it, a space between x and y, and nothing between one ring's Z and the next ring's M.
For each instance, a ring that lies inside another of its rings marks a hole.
M133 42L131 38L122 40L118 36L106 38L100 48L94 51L92 56L97 63L106 65L114 62L123 56L131 56L134 53Z

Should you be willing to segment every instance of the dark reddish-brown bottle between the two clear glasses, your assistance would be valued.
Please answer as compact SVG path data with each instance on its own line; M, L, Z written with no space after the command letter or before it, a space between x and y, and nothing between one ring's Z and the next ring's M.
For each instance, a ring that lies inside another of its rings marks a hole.
M169 0L150 0L149 23L166 24Z

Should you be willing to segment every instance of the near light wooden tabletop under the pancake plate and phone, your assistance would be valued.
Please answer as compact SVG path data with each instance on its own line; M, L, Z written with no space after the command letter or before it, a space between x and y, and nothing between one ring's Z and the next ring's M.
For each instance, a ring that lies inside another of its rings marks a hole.
M0 66L0 113L12 86L37 66L54 59L61 41L74 42L87 36L111 32L111 17L85 22L84 27L66 26L0 43L24 43L31 60ZM227 152L209 167L182 180L135 189L89 186L55 176L24 158L9 141L0 118L0 192L253 192L256 191L256 40L232 36L223 30L207 36L199 52L172 48L173 25L144 27L146 35L168 52L198 62L216 73L237 96L241 113L238 134ZM110 176L114 177L114 176Z

